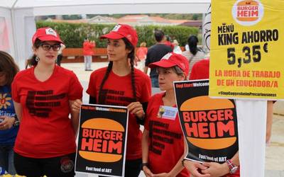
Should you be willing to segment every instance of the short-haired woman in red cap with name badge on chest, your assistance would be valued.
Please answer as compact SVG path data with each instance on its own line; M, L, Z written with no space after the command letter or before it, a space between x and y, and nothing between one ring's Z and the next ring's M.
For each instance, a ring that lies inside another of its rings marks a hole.
M146 176L189 176L181 163L185 142L173 87L173 81L186 79L188 60L182 55L170 52L149 67L157 68L158 84L164 92L152 96L148 103L142 138L143 171ZM173 114L167 115L167 112ZM165 135L173 135L170 136L170 142L157 140L163 139Z

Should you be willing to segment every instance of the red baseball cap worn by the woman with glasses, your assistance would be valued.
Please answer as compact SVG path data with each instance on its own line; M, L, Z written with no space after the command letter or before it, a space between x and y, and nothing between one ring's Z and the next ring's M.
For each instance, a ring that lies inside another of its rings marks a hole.
M42 41L53 40L64 44L64 42L62 42L62 40L60 39L58 33L50 27L38 28L38 30L36 30L35 34L33 35L33 44L35 43L36 39Z

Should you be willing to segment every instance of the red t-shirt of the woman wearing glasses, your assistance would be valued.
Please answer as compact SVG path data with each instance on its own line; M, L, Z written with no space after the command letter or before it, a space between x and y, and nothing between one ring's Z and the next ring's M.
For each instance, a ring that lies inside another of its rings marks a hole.
M12 83L12 98L22 108L16 153L49 158L75 152L69 101L82 98L82 86L73 72L55 66L46 81L35 78L34 67L18 72Z

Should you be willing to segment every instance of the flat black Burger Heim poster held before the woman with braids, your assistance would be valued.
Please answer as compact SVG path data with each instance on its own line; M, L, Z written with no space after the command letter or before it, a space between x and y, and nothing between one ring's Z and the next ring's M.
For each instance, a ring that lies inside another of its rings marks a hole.
M124 176L126 107L82 105L75 171Z

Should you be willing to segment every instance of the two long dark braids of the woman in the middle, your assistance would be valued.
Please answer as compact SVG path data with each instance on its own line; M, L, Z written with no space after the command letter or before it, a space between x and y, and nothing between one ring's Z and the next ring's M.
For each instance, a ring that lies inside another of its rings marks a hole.
M135 59L135 50L134 46L131 45L131 42L127 40L126 38L122 38L124 40L124 43L126 45L126 49L130 50L131 52L129 55L127 55L128 58L130 58L130 64L131 64L131 86L133 91L133 101L137 101L136 96L136 86L135 86L135 76L134 76L134 59ZM111 72L113 62L109 62L109 65L107 67L107 72L104 74L104 79L102 79L102 84L99 86L99 104L104 104L106 100L107 91L103 91L104 83L107 81L107 78L109 77L109 73Z

